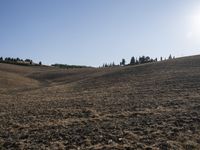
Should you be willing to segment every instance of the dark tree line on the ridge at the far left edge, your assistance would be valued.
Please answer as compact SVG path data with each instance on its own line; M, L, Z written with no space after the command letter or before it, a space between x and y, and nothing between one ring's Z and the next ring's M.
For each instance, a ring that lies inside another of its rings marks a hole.
M20 58L11 58L11 57L0 57L0 63L8 63L8 64L15 64L15 65L33 65L33 66L41 66L42 62L40 61L39 63L33 62L31 59L20 59Z

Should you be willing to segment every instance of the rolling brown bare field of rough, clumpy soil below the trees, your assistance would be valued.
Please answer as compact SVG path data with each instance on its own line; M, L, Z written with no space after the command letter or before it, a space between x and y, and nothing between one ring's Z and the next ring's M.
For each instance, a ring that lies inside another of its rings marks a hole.
M106 69L0 64L0 149L200 149L200 56Z

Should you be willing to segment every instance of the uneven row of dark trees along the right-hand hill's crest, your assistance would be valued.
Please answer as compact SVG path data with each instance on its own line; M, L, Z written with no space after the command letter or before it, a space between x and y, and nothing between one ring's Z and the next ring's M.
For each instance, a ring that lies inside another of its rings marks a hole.
M160 57L160 61L164 61L164 60L168 60L168 59L175 59L175 57L172 57L172 55L170 54L168 58L163 58ZM157 62L159 61L158 58L151 58L149 56L139 56L137 57L131 57L130 63L126 63L126 60L123 58L121 60L121 62L118 65L115 65L114 62L112 63L104 63L102 66L100 67L114 67L114 66L126 66L126 65L139 65L139 64L145 64L145 63L152 63L152 62Z

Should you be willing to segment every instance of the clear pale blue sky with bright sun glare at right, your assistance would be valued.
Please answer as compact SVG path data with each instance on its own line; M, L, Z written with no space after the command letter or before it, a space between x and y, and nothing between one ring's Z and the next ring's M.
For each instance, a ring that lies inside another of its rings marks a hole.
M199 0L0 0L0 56L100 66L200 54Z

